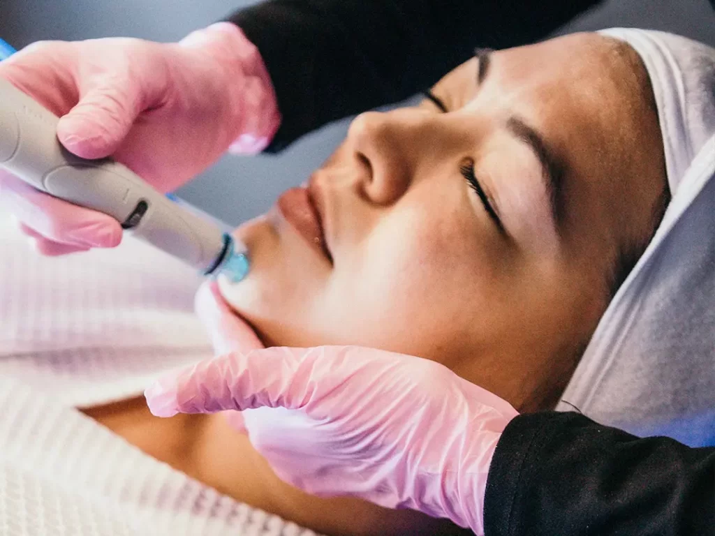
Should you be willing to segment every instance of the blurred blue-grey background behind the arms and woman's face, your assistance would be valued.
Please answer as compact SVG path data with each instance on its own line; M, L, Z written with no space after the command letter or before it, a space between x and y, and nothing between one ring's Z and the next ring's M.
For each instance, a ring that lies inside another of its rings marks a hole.
M250 4L255 0L0 0L0 36L17 48L39 39L102 36L175 41ZM609 26L672 31L715 46L715 14L707 0L611 0L559 33ZM280 156L225 157L179 194L237 224L305 180L346 129L347 120L327 126Z

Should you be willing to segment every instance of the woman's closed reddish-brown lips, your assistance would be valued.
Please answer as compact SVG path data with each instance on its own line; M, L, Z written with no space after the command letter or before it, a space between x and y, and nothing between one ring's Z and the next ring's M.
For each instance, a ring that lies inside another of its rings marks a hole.
M325 231L316 199L310 187L296 187L283 192L277 201L277 207L285 220L300 236L325 256L332 264L332 255L325 243Z

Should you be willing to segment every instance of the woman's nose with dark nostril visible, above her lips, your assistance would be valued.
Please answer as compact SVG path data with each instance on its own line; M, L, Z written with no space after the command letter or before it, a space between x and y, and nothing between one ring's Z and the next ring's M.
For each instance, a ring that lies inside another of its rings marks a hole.
M407 192L423 155L427 114L418 110L368 111L347 131L347 144L363 168L358 187L370 202L393 204Z

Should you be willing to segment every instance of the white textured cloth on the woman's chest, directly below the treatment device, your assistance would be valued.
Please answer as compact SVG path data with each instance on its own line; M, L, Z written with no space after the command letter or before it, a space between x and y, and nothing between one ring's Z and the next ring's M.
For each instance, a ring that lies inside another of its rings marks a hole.
M42 257L0 213L0 260L0 376L85 407L212 355L193 312L197 274L132 237Z

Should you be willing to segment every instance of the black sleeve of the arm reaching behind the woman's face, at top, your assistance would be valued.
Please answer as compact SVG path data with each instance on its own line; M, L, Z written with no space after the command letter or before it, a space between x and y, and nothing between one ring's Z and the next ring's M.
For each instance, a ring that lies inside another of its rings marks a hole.
M283 121L269 150L427 89L469 59L543 38L601 0L270 0L237 11Z

